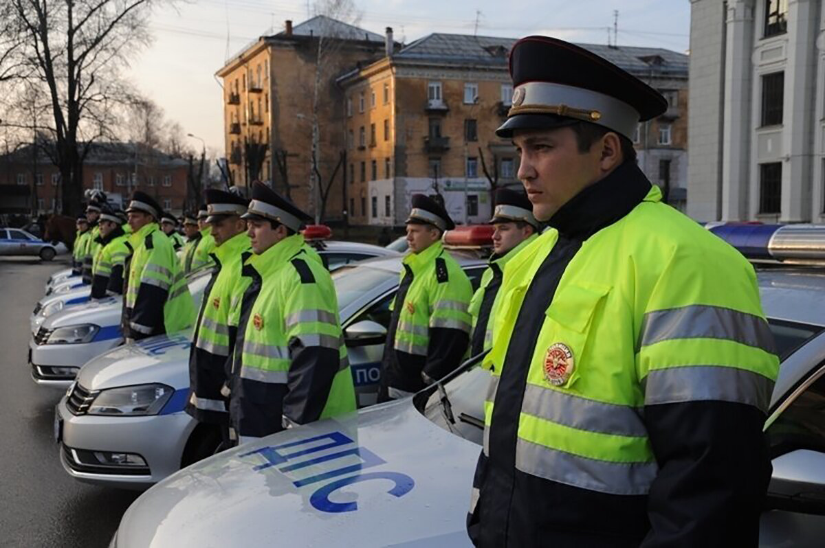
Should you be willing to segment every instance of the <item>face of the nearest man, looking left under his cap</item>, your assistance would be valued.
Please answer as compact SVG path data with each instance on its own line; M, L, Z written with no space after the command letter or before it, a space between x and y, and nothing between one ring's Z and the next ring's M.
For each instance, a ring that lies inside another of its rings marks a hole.
M547 221L573 196L606 176L602 141L579 152L573 129L516 131L513 144L521 157L518 178L533 204L535 218Z

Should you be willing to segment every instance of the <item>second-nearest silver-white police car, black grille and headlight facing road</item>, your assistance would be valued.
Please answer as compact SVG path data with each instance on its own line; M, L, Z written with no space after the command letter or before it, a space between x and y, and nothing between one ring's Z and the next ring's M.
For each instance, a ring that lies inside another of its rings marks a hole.
M468 255L459 260L477 283L486 263ZM361 407L375 403L389 303L401 268L400 258L394 257L342 267L332 274ZM219 432L196 425L183 411L188 390L185 336L152 337L93 359L56 409L64 468L82 481L146 488L212 454ZM141 402L137 412L135 400ZM110 401L120 401L123 407Z

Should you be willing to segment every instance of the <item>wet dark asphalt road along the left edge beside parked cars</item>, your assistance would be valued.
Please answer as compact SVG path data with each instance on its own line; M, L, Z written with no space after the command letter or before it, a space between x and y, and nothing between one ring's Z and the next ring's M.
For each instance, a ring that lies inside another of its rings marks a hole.
M0 546L107 546L139 495L64 472L53 434L63 392L31 380L29 315L65 260L0 257Z

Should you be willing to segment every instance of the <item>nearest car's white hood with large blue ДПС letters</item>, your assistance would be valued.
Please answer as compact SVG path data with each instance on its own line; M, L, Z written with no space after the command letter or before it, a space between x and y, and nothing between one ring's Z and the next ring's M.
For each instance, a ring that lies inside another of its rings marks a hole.
M409 398L376 405L169 476L127 510L117 546L471 546L480 450Z

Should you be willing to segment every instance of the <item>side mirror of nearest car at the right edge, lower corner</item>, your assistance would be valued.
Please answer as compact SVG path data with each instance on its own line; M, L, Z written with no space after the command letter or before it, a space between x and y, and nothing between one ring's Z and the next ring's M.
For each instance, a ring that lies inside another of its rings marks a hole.
M797 449L773 460L768 508L825 515L825 453Z

